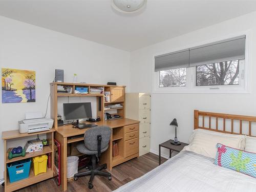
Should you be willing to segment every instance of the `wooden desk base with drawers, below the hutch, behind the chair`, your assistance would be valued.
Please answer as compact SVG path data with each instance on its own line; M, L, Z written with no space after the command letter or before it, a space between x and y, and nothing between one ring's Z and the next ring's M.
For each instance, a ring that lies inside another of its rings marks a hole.
M87 122L88 123L88 122ZM117 119L95 122L97 125L105 125L112 128L112 135L108 150L102 153L100 163L106 163L109 170L113 166L139 157L139 121L132 119ZM89 128L90 129L90 128ZM68 145L83 140L83 134L88 129L79 130L72 125L58 126L54 138L60 143L60 175L61 188L67 190L67 157ZM112 156L112 143L118 144L119 155Z

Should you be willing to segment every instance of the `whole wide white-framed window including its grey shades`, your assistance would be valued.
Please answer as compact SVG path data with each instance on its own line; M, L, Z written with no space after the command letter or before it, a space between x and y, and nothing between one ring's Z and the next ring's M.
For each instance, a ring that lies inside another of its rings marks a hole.
M157 93L249 93L245 35L155 56Z

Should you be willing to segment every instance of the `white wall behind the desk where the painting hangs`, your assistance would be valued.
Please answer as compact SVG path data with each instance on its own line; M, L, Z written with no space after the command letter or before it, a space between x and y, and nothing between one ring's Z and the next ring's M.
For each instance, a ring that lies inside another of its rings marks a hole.
M0 67L36 71L35 103L0 102L0 135L2 131L18 129L17 122L25 118L25 112L45 113L55 69L64 70L66 82L72 82L76 73L78 82L114 81L129 89L129 52L1 16L0 29ZM3 150L1 140L0 179L4 170Z

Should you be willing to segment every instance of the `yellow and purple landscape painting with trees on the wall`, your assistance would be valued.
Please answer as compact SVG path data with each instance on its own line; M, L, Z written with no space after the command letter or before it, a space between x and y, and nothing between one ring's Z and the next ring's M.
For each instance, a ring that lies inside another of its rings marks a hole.
M35 102L35 71L2 68L2 103Z

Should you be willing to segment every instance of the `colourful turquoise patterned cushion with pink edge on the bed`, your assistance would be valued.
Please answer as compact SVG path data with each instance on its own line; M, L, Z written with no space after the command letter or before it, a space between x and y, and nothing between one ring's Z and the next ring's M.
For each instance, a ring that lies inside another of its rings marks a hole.
M238 150L220 143L217 144L217 148L214 164L256 178L256 153Z

